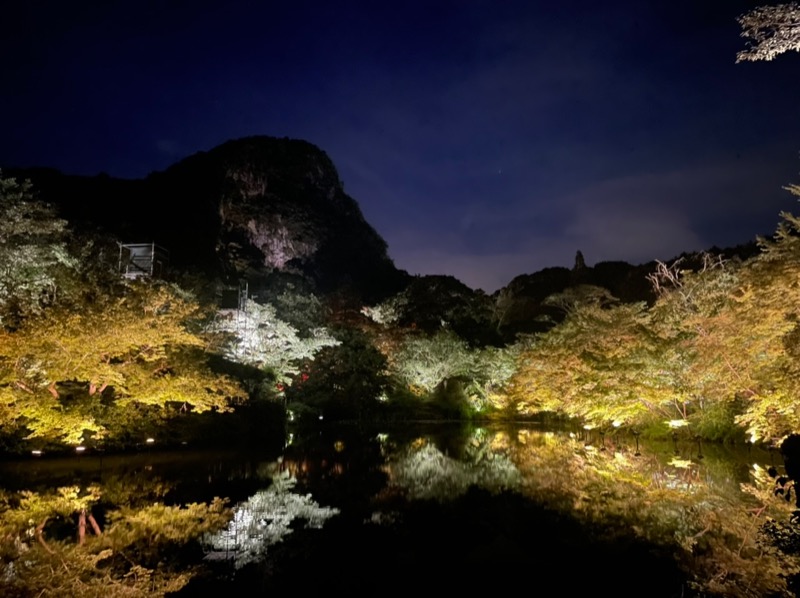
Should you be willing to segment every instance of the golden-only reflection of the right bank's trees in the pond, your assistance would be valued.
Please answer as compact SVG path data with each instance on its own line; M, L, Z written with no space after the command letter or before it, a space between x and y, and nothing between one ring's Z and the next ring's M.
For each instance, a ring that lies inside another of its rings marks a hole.
M610 524L671 548L699 590L720 595L785 593L798 561L771 547L758 529L788 519L769 478L741 489L709 475L702 462L624 446L600 450L579 438L523 430L508 443L524 492L587 522ZM755 470L756 473L758 470Z

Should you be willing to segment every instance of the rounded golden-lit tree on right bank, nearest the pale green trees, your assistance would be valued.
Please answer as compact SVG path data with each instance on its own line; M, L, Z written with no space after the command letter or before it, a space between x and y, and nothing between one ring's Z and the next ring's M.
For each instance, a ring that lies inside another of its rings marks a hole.
M680 418L685 397L671 384L668 351L642 303L576 306L521 352L513 407L523 414L560 412L597 426Z

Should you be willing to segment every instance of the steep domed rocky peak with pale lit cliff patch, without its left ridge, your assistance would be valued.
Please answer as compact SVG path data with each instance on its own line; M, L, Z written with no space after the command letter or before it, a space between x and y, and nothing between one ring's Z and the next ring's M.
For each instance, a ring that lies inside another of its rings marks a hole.
M299 274L324 291L347 284L368 295L402 278L330 158L310 143L248 137L170 170L191 171L214 189L214 249L231 275Z

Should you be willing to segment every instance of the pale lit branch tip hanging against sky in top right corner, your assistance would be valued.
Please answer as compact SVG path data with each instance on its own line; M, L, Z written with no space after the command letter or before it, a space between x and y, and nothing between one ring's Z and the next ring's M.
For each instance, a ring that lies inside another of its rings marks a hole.
M791 50L800 51L800 5L791 2L759 6L737 21L747 48L736 55L736 62L772 60Z

